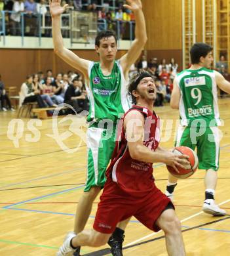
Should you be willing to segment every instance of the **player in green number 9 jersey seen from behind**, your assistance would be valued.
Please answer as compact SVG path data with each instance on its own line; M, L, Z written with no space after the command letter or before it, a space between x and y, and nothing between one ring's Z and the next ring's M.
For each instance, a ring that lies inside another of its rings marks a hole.
M205 200L203 211L214 216L225 215L214 202L218 180L220 114L218 110L218 87L230 93L230 83L223 75L210 70L213 61L212 47L195 43L190 50L191 68L183 70L174 79L170 106L179 109L180 127L176 146L197 147L199 169L205 169ZM169 175L166 196L173 198L178 179Z

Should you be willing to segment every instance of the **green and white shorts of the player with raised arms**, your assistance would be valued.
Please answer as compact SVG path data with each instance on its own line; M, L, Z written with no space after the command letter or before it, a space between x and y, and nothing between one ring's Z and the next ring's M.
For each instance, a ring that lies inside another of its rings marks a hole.
M105 171L115 148L115 128L108 133L106 129L89 127L86 138L88 163L85 192L92 186L104 187Z

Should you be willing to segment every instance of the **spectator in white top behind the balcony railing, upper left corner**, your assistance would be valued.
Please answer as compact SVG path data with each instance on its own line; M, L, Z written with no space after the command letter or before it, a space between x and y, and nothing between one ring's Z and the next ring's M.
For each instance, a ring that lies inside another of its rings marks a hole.
M24 12L24 1L16 0L12 7L13 13L10 15L10 34L11 35L20 35L21 32L21 12Z

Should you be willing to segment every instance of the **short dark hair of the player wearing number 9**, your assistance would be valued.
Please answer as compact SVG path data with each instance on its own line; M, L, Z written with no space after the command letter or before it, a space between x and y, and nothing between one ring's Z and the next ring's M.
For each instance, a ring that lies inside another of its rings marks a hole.
M207 43L195 43L190 49L191 64L199 64L200 58L205 58L212 49Z

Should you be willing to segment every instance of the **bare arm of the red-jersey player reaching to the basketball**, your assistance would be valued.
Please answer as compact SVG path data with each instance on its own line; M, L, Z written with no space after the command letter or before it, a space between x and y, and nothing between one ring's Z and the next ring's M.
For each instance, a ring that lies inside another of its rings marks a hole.
M129 112L124 120L126 140L128 141L128 150L134 160L145 161L147 163L166 163L177 170L177 167L183 167L187 163L187 156L176 156L168 150L159 148L155 152L144 146L144 116L138 111Z

